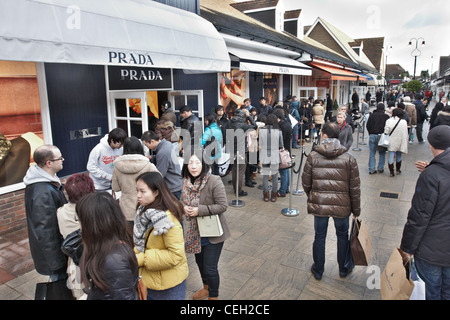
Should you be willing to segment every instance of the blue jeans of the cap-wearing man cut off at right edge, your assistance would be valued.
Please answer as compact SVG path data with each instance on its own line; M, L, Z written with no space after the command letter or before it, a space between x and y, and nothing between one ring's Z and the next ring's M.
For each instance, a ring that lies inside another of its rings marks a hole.
M432 265L414 256L419 277L425 282L427 300L450 300L450 267Z

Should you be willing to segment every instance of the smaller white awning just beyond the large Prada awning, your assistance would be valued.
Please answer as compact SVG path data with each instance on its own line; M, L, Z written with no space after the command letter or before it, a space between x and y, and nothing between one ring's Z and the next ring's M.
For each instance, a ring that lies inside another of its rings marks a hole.
M230 45L228 45L228 52L239 58L239 70L303 76L312 75L311 67L287 56L236 48Z

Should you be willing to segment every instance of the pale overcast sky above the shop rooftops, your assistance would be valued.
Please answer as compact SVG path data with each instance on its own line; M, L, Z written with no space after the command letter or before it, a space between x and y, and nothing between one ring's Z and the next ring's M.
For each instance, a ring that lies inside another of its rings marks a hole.
M419 45L416 75L421 70L436 71L439 57L450 55L449 0L283 1L285 10L302 9L305 25L321 17L354 39L384 36L386 46L392 45L387 63L398 63L411 75L415 41L412 47L408 43L412 38L422 37L426 43Z

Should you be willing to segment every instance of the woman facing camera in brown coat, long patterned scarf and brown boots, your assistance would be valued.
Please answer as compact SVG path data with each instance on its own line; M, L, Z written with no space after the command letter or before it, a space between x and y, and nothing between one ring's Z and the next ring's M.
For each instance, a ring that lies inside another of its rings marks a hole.
M220 282L219 258L223 243L230 236L224 215L228 206L225 186L220 176L211 174L210 167L200 152L194 153L188 163L184 164L182 175L181 201L185 211L183 225L186 252L195 254L195 262L203 282L203 288L194 294L193 299L208 297L209 300L217 300ZM219 215L223 234L218 237L201 237L197 217L210 214Z

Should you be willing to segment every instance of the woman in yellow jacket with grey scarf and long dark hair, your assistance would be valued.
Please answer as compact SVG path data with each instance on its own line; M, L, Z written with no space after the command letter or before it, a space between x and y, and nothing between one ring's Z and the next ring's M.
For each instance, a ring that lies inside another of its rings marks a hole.
M180 219L181 202L159 172L136 179L138 209L133 240L148 300L184 300L189 274Z

